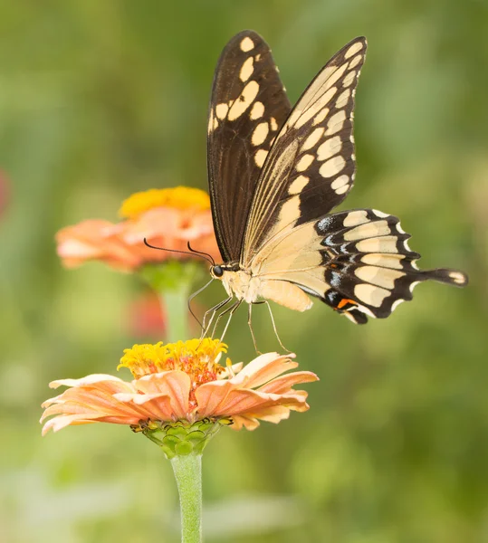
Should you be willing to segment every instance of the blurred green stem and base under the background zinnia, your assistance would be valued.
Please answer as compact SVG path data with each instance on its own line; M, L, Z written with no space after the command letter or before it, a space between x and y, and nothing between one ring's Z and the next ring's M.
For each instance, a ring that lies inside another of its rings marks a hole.
M166 316L167 342L189 338L188 296L202 272L201 262L195 260L168 260L161 264L148 264L141 270L143 279L158 292Z

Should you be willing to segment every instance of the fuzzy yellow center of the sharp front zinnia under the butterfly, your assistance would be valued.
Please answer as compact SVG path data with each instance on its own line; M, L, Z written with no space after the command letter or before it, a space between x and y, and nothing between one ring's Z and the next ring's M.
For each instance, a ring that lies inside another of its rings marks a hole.
M215 381L225 372L216 358L227 352L227 346L220 339L189 339L163 345L134 345L124 349L120 367L128 367L132 375L139 379L152 373L179 369L191 379L192 390L197 386Z

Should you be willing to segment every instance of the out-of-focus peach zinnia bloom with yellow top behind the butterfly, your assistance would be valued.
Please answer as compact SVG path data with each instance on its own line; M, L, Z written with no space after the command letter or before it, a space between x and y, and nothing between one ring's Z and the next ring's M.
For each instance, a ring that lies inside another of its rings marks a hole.
M187 251L191 242L198 251L219 259L210 200L205 191L186 186L151 189L131 195L121 206L118 224L89 219L62 228L56 234L62 263L73 268L99 260L122 271L133 271L148 262L191 255L157 251L144 244Z

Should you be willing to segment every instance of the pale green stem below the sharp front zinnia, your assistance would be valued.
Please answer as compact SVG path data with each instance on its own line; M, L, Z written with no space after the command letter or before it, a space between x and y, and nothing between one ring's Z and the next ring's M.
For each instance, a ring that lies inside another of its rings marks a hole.
M181 511L181 543L202 541L202 455L177 455L171 459L177 479Z

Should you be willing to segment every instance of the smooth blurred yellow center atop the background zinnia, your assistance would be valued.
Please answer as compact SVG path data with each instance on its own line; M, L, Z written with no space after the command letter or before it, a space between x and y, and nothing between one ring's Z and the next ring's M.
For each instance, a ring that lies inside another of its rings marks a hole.
M203 211L210 209L210 197L204 190L189 186L174 188L152 188L130 195L122 203L119 214L127 219L135 219L140 214L155 207L175 207Z

